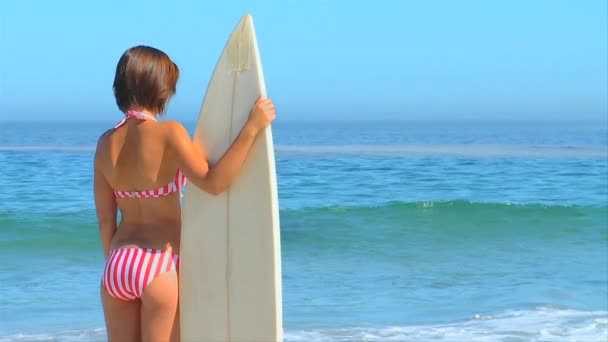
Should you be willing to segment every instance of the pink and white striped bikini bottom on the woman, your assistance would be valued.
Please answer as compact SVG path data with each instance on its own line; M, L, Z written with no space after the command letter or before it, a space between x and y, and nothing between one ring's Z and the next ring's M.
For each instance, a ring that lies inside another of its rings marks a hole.
M160 274L179 270L179 255L151 248L119 248L110 253L103 271L103 285L117 299L141 298Z

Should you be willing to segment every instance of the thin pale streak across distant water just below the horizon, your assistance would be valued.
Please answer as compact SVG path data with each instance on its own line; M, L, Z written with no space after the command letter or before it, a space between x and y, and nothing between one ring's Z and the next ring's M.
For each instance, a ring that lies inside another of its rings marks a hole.
M95 146L23 145L0 146L0 152L91 153ZM606 158L606 145L525 145L525 144L407 144L407 145L276 145L282 156L451 156L467 158Z

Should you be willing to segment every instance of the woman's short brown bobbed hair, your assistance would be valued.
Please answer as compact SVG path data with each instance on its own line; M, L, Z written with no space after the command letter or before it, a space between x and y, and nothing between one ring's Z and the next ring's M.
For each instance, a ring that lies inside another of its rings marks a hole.
M163 114L175 95L179 69L166 53L135 46L120 57L114 76L114 97L121 111L151 110Z

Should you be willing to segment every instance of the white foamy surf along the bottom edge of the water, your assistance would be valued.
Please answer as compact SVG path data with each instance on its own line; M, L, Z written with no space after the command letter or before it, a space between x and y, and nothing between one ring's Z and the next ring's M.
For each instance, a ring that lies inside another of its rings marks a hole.
M285 330L285 342L346 341L606 341L607 311L577 311L541 307L496 315L478 314L444 324L384 327L333 327ZM102 328L0 336L9 341L105 341Z

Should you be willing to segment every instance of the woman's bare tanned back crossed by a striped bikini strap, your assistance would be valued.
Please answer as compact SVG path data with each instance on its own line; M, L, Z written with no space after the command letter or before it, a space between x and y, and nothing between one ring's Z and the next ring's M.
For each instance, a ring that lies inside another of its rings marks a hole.
M179 250L183 183L166 143L165 126L131 117L99 141L98 165L122 214L112 248Z

